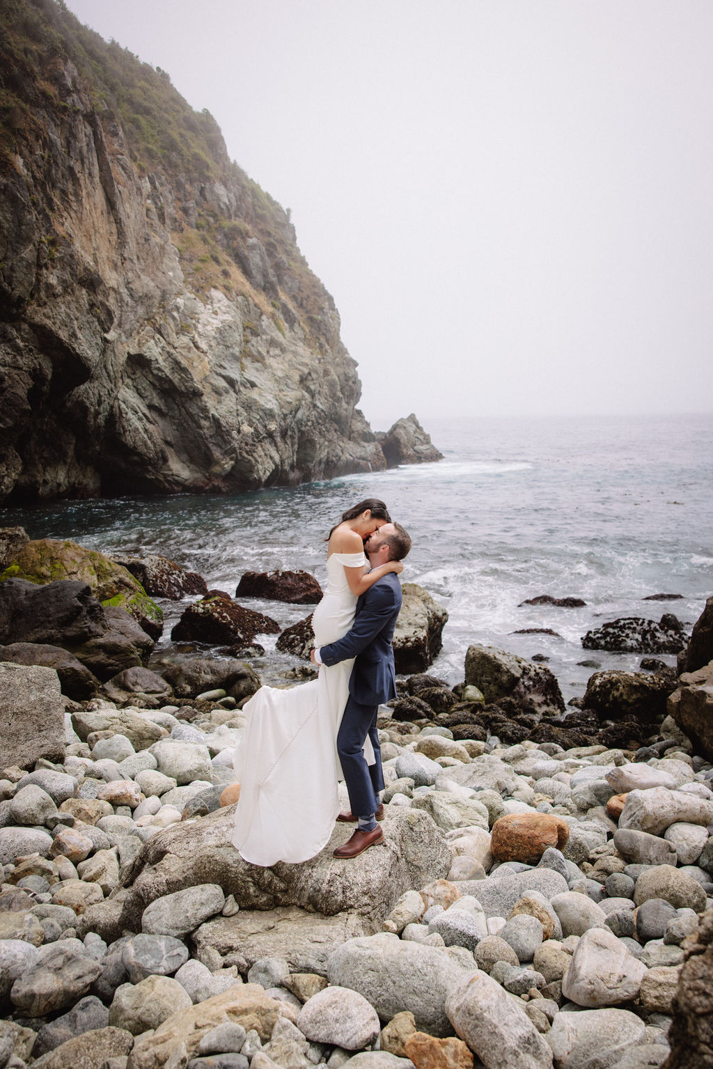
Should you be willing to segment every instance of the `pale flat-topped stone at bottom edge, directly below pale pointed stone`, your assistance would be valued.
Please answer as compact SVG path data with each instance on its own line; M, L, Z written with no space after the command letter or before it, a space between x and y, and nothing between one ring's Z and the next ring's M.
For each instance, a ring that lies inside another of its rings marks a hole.
M558 1069L609 1069L627 1050L641 1043L645 1029L644 1021L626 1009L560 1010L547 1033L547 1043Z

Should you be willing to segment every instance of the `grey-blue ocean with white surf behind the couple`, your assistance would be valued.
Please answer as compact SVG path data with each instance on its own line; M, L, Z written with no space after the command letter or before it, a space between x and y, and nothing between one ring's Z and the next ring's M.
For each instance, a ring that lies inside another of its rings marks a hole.
M158 553L235 593L245 571L306 569L326 582L324 538L365 497L383 498L413 538L402 582L449 613L430 671L464 678L468 646L542 654L565 700L584 695L595 661L636 669L640 654L585 651L591 628L675 613L689 630L713 593L713 416L423 420L444 460L295 489L63 501L0 509L0 526L71 538L108 554ZM682 595L673 602L650 594ZM540 594L583 608L522 605ZM286 626L305 606L245 601ZM183 605L161 602L165 637ZM517 634L525 629L548 634ZM253 664L278 682L296 662L261 639ZM675 664L676 657L662 660Z

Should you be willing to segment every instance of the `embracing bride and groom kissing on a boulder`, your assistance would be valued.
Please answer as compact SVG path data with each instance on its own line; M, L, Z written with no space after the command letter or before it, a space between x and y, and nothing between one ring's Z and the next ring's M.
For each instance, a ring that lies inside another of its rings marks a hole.
M244 706L233 843L245 861L308 861L325 847L336 820L357 824L336 857L356 857L383 840L376 712L396 696L397 576L409 549L406 531L372 498L329 532L327 590L312 617L311 660L320 673L286 691L263 686ZM340 778L350 812L339 812Z

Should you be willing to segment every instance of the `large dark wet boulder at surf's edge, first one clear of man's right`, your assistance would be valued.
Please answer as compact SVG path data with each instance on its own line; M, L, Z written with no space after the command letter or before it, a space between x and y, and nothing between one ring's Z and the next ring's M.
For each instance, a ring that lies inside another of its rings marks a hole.
M564 712L559 684L548 668L491 646L468 647L465 682L477 686L486 702L512 698L517 708L534 713Z

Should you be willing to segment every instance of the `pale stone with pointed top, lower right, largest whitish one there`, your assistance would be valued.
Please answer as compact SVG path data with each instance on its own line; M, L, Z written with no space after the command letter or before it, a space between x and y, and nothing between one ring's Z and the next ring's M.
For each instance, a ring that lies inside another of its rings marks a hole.
M562 994L578 1006L601 1009L638 994L647 967L608 928L591 928L577 943L562 978Z

